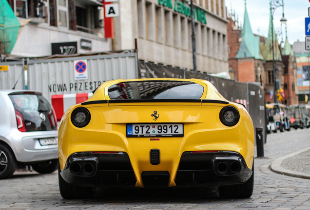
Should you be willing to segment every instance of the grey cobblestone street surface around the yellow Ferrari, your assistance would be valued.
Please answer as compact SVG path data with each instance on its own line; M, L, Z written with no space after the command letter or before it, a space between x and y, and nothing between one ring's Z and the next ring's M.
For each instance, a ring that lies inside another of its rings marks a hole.
M91 200L65 200L58 174L17 172L0 180L0 209L10 210L310 210L310 180L279 175L273 160L310 147L310 129L267 136L265 157L255 158L254 192L249 199L222 199L208 189L99 189Z

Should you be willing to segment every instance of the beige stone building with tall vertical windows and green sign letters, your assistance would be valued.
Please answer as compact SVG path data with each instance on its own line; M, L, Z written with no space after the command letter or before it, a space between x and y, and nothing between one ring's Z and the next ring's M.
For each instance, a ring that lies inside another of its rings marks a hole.
M115 50L134 47L146 62L193 69L192 22L189 0L119 1ZM228 72L224 0L194 0L197 70Z

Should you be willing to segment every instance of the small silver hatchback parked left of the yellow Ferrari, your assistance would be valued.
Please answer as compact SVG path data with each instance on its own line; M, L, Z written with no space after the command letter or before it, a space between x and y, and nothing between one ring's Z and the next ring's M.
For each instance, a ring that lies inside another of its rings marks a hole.
M58 168L56 114L42 93L0 90L0 119L0 179L17 165L32 165L40 174Z

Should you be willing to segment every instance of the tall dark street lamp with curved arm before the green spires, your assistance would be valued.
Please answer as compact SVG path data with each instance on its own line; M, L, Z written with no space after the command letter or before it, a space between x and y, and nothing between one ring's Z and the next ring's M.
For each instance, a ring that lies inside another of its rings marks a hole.
M278 67L275 68L274 63L274 44L273 44L273 14L276 8L282 6L283 13L281 18L281 23L286 23L287 19L284 17L284 2L283 0L271 0L270 10L271 10L271 45L272 45L272 71L273 71L273 99L274 103L277 103L277 88L276 88L276 73L278 72ZM277 70L277 71L276 71Z

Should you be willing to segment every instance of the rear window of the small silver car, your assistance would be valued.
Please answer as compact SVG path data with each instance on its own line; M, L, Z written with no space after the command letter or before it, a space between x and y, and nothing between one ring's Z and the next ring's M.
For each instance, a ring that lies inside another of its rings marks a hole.
M19 111L26 131L57 130L51 104L41 95L9 95L14 108Z

